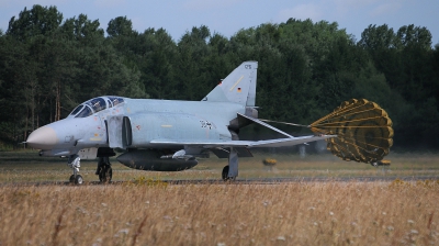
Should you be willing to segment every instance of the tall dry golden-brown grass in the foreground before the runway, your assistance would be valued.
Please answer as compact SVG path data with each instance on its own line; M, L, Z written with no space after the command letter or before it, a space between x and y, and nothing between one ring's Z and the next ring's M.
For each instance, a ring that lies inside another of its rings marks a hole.
M0 187L0 245L432 245L437 182Z

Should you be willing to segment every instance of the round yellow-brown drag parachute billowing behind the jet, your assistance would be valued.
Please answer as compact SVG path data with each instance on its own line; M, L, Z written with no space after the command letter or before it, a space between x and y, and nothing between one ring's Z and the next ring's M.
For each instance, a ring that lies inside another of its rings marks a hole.
M337 135L326 139L327 148L344 160L375 164L393 145L391 119L380 105L365 99L345 101L309 126L317 134Z

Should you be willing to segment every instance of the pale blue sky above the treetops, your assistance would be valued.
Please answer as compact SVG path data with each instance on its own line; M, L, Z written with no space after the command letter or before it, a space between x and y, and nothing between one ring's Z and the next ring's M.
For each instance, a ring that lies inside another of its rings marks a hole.
M369 24L387 24L395 32L415 24L431 32L432 45L439 43L438 0L0 0L0 29L5 32L12 16L34 4L56 5L64 20L87 14L103 30L111 19L126 16L136 31L164 27L176 42L192 26L230 37L240 29L309 18L337 22L357 40Z

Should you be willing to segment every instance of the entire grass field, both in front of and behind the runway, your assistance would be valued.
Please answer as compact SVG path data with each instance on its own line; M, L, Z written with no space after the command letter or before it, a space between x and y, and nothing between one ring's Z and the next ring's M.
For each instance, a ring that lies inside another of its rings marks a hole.
M275 158L275 169L262 165ZM224 160L146 172L113 160L121 185L66 181L65 159L0 153L0 245L438 245L439 156L393 154L384 171L330 155L240 159L239 179L391 176L392 182L225 183ZM97 180L95 161L81 175ZM427 181L398 177L427 176ZM205 185L164 180L214 179ZM153 181L151 181L153 180ZM27 185L26 185L27 183Z

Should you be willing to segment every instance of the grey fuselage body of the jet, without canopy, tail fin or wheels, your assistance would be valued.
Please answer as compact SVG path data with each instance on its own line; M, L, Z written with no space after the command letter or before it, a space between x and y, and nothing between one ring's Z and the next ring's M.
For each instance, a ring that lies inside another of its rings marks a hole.
M45 125L31 134L29 145L42 149L45 156L68 156L90 147L154 148L154 139L230 141L230 121L246 111L233 102L121 98L122 103L112 105L108 97L98 99L105 101L99 112L81 118L77 112ZM126 130L114 124L123 119L127 119L132 133L125 144L119 138L123 137L120 131ZM33 144L34 138L38 138L37 144Z

